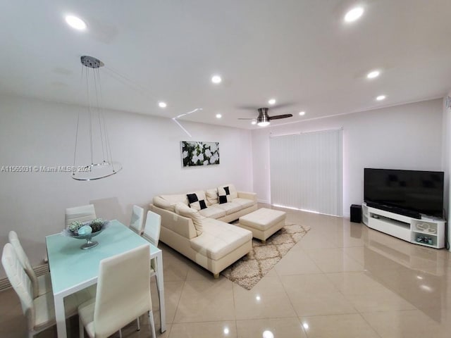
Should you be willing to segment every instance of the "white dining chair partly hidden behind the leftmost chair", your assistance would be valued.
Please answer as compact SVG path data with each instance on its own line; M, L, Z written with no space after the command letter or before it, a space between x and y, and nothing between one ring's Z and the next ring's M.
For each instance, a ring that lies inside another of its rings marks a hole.
M27 257L27 254L23 250L22 245L20 244L18 235L15 231L10 231L8 234L8 240L16 251L16 255L18 260L22 264L25 273L30 278L33 290L33 297L41 296L47 292L51 292L51 280L50 274L46 273L45 275L41 275L37 277L35 270L33 270L30 260Z

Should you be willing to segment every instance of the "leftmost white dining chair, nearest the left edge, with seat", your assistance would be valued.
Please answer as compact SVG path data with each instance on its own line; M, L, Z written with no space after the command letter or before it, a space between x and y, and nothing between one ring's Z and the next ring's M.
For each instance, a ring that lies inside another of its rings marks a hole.
M28 337L35 337L35 334L46 330L56 324L54 297L51 292L40 296L33 296L32 283L25 269L20 263L16 250L11 243L6 243L1 255L1 264L4 267L6 276L11 286L20 299L22 311L27 322ZM92 299L95 289L84 289L75 294L71 294L64 299L64 309L66 318L77 314L80 303Z

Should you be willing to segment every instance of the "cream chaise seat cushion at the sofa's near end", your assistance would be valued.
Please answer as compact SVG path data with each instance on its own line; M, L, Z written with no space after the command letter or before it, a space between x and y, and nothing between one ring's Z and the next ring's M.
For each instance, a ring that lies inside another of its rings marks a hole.
M191 239L191 247L202 255L218 260L252 240L252 232L213 218L202 220L202 236Z

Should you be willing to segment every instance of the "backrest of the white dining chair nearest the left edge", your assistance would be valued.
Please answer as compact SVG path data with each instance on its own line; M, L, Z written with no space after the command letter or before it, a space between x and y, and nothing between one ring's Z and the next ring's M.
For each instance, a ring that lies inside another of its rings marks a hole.
M6 243L3 248L1 264L5 269L6 276L8 276L8 280L14 291L19 296L23 314L27 318L28 330L31 331L35 327L35 306L33 304L32 284L11 243Z

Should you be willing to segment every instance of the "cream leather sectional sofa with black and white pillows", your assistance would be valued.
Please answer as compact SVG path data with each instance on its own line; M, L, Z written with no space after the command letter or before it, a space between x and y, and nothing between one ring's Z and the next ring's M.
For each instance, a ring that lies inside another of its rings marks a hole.
M252 250L252 232L228 222L256 211L257 194L237 192L233 184L155 196L150 210L161 215L160 241L215 278Z

